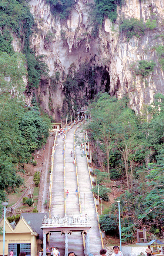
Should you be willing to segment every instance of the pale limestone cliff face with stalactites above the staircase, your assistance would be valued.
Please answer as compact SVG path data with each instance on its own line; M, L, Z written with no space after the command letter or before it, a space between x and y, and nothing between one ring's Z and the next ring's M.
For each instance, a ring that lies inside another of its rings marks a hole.
M51 77L60 72L55 88L51 86L50 80L47 81L43 77L35 94L44 110L56 120L60 119L63 107L63 82L68 71L74 66L74 74L83 63L96 67L94 92L106 91L118 98L126 94L130 98L130 107L137 113L144 104L153 101L155 93L164 93L163 71L153 49L155 45L161 44L162 40L157 35L162 34L163 0L125 0L121 7L117 7L116 23L112 25L109 19L105 19L96 38L91 36L88 2L90 1L77 0L70 18L63 21L52 15L46 1L30 1L31 13L37 24L31 38L31 47L35 49L37 55L46 55L45 60ZM146 30L141 39L133 36L127 42L124 34L119 33L118 24L121 17L141 18L146 21L152 12L157 18L157 28ZM130 65L137 60L154 60L157 63L153 74L148 76L146 81L142 81L141 76L134 79ZM28 104L32 95L33 92L27 94ZM79 88L78 96L86 97L87 100L92 98L87 79L83 89ZM70 98L73 100L75 95L70 95ZM71 108L74 109L73 103Z

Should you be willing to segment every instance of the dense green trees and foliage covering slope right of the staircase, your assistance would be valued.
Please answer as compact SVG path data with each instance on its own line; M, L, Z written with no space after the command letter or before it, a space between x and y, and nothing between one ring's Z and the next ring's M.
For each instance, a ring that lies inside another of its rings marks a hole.
M88 132L92 143L104 154L104 169L108 162L107 169L112 170L112 175L116 172L114 179L117 175L126 178L125 192L120 195L121 233L123 241L130 242L142 225L152 225L156 235L163 234L164 96L155 95L147 107L148 116L136 116L127 103L125 98L98 95L91 104ZM97 193L97 187L93 191ZM106 210L104 214L109 215L103 215L100 224L110 231L108 227L117 228L117 218L110 223L110 215L118 214L117 202Z

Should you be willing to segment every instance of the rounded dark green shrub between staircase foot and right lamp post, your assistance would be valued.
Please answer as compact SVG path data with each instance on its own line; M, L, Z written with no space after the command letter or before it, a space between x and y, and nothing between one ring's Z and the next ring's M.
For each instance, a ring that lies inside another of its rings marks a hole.
M101 215L99 223L100 223L101 229L103 229L107 233L118 229L117 216L114 214Z

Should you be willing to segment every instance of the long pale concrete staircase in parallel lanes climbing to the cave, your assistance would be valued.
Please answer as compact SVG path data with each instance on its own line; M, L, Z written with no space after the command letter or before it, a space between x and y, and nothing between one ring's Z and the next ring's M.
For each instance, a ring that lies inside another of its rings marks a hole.
M66 148L65 148L65 176L66 176L66 191L68 190L68 198L66 198L66 214L68 217L80 214L80 207L78 202L78 196L76 196L75 190L77 189L76 179L76 167L73 164L74 159L74 126L66 135ZM77 130L77 134L81 139L83 134L80 133L80 129ZM53 167L53 189L52 189L52 206L51 215L59 215L64 217L64 164L62 150L64 147L64 141L62 137L57 138L58 147L56 148L56 154L54 157ZM73 156L71 157L71 150ZM101 249L101 240L98 229L98 223L96 218L96 211L94 207L93 194L91 192L90 178L87 169L86 157L82 155L81 147L76 147L76 160L77 160L77 172L80 188L81 199L81 212L82 216L86 213L90 217L90 253L98 256ZM85 194L85 204L84 204ZM64 256L65 252L65 237L60 232L51 233L49 246L58 247L60 255ZM81 232L72 232L68 234L68 252L73 251L77 256L84 255L83 239Z

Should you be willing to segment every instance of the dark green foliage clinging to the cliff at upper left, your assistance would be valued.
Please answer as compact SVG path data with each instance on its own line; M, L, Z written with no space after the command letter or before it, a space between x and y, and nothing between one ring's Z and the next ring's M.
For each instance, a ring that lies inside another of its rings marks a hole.
M2 0L0 3L0 51L13 55L14 51L11 45L14 36L20 39L22 45L21 51L25 54L27 61L29 89L38 87L41 74L48 76L48 67L43 61L44 56L35 57L29 45L29 37L32 34L34 25L33 16L30 13L29 6L25 0Z

